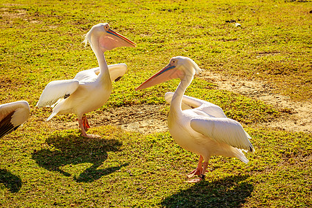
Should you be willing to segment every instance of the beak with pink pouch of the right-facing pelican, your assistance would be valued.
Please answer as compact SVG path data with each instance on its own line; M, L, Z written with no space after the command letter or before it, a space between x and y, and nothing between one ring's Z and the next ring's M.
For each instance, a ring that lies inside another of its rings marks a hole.
M135 47L137 44L129 40L127 37L116 33L112 29L108 29L105 36L100 37L99 44L107 50L112 50L116 47Z

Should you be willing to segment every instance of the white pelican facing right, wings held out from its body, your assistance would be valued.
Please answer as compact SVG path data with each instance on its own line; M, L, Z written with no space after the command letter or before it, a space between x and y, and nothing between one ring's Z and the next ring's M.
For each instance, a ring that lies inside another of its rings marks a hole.
M136 44L110 29L109 24L97 24L85 35L85 44L90 43L98 60L99 67L80 71L71 80L55 80L46 85L37 107L54 107L49 121L56 114L73 113L78 116L78 123L84 137L89 128L83 114L92 112L104 105L112 92L112 82L123 76L127 70L125 64L107 66L104 52L116 47L135 47Z

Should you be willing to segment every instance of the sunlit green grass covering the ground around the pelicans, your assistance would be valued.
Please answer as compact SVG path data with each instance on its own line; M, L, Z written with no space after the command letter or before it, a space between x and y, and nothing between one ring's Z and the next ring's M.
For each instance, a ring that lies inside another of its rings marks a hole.
M0 1L0 101L26 100L31 117L0 141L1 207L311 207L311 135L248 128L288 116L261 101L220 91L196 78L187 95L223 107L252 136L250 163L213 157L207 180L184 183L197 155L168 132L140 135L116 126L55 130L51 110L34 106L51 80L96 67L81 43L94 24L109 22L137 48L105 53L128 73L106 105L168 105L177 80L135 92L176 55L204 70L266 80L295 101L311 101L309 1ZM226 20L235 19L241 27ZM64 122L75 116L58 116ZM53 122L53 121L51 121ZM252 125L254 126L254 125Z

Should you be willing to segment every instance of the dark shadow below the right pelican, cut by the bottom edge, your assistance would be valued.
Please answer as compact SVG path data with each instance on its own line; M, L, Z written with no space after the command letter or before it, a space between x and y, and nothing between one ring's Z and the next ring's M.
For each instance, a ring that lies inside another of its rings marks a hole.
M248 175L225 177L214 182L200 182L165 198L163 207L241 207L254 189L243 182Z

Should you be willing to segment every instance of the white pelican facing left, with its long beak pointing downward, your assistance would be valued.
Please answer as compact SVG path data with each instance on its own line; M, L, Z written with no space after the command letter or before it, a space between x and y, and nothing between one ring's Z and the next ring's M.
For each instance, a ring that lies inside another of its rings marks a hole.
M182 148L200 155L197 168L189 173L199 178L188 182L198 182L205 178L207 165L212 155L237 157L242 162L248 159L241 150L254 152L248 135L241 124L228 119L223 110L207 101L202 101L184 92L191 84L193 76L200 68L190 58L177 56L154 76L142 83L136 90L163 83L166 80L180 78L181 82L175 93L166 93L165 99L171 103L168 115L168 128L171 136ZM205 161L202 166L203 160Z

